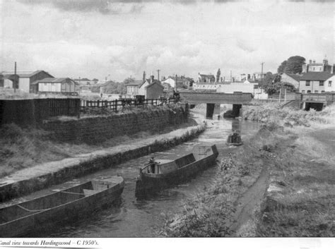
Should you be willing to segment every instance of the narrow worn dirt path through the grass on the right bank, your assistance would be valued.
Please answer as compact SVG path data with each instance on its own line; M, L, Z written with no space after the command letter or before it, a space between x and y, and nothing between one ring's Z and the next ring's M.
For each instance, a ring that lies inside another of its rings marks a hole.
M257 181L237 200L236 211L230 224L233 237L256 236L255 212L260 210L266 189L269 186L269 169L264 165Z

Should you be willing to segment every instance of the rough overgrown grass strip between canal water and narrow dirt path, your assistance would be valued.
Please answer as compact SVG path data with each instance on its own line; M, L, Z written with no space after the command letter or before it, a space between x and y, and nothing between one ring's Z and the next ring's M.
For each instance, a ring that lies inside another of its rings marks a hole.
M276 146L276 137L264 126L235 154L223 157L218 174L211 185L184 202L179 214L165 218L159 236L167 237L223 237L231 236L230 218L237 200L254 184L263 164L268 160L270 143ZM270 139L270 140L269 140ZM253 155L250 157L250 155Z

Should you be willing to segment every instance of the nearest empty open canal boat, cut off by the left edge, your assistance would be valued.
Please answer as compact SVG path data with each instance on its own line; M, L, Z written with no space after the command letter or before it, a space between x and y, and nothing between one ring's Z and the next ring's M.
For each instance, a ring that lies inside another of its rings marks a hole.
M112 176L0 209L0 236L18 237L59 221L81 219L119 199L124 180Z

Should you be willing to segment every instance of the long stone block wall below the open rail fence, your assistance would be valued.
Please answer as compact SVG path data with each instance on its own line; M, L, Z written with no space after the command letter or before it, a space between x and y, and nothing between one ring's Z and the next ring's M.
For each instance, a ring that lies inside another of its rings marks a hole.
M49 121L42 128L61 142L96 144L141 131L160 132L168 126L187 122L188 107L141 111L136 114L100 116L73 121Z

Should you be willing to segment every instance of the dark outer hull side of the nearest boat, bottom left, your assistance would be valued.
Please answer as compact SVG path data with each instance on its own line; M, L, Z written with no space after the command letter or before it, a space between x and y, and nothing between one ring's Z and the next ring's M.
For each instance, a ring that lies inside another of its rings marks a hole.
M41 212L35 212L13 221L8 221L0 225L0 236L18 237L32 233L35 235L39 231L42 231L42 229L45 230L60 223L64 224L67 221L82 219L96 210L102 209L106 205L112 205L112 203L119 200L123 189L124 181L122 179L121 183L98 193ZM30 202L32 201L34 200Z

